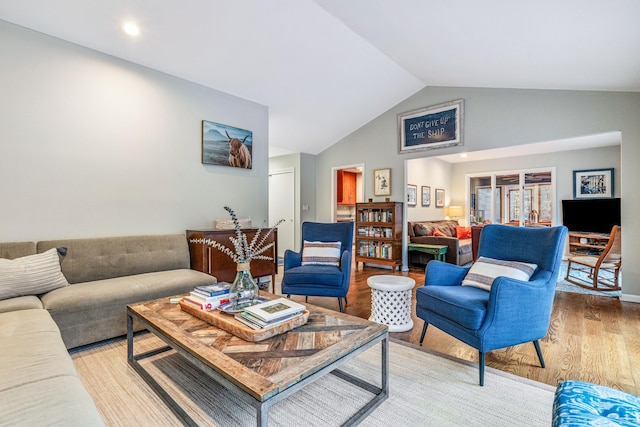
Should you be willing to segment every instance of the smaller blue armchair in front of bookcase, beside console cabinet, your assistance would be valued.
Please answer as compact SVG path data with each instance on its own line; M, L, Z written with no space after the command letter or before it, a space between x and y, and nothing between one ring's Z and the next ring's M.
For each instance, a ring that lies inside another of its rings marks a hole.
M339 265L303 264L305 242L340 242ZM293 295L337 297L340 311L342 298L347 303L351 280L351 247L353 222L302 223L302 250L284 253L282 293Z

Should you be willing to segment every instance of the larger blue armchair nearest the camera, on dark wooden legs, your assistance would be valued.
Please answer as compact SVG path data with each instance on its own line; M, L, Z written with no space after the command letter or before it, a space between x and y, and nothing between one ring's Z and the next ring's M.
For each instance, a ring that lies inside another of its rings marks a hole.
M416 290L416 315L425 322L420 344L432 324L476 348L481 386L488 351L533 341L544 368L538 340L549 330L566 236L563 226L483 227L479 257L537 265L528 281L499 276L490 291L461 285L469 267L429 262L425 284Z

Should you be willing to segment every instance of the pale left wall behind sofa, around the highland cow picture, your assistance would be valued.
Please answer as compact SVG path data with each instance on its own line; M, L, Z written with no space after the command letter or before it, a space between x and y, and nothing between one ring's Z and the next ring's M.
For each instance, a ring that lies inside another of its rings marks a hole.
M268 110L0 21L0 241L184 232L268 217ZM201 120L253 131L203 165Z

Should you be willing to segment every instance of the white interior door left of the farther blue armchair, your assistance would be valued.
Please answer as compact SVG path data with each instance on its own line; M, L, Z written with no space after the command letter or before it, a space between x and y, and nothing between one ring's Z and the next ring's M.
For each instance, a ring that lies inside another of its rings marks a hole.
M278 256L284 256L287 249L295 247L295 179L293 170L269 173L269 225L280 219L278 227Z

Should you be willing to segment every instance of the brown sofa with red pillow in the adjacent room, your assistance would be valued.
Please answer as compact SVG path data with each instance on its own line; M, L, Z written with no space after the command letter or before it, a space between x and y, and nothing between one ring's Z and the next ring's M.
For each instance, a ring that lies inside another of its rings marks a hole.
M407 224L407 228L410 243L447 246L446 259L449 264L465 265L473 259L471 231L468 227L461 227L458 221L413 221ZM412 264L426 264L431 259L430 255L422 252L409 252L409 262Z

